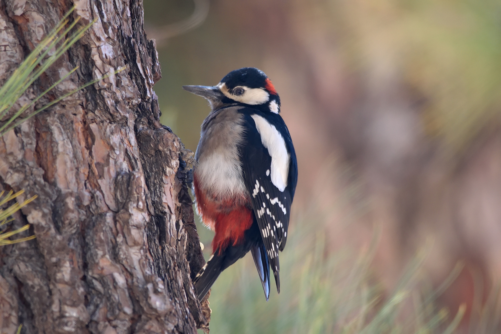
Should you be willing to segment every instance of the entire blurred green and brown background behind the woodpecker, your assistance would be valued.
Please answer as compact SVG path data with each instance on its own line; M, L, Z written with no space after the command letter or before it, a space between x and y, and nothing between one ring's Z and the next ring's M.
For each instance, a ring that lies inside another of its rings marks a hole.
M274 82L298 154L282 293L266 302L245 257L212 289L212 332L501 331L501 2L144 9L161 121L188 149L209 108L181 86L252 66Z

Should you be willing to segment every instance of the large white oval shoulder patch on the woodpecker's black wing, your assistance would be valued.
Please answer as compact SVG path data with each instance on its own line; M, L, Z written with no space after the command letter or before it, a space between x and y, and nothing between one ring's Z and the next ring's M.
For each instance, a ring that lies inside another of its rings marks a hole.
M289 162L291 160L285 146L284 137L282 137L274 125L270 124L263 117L259 115L252 115L251 117L256 122L256 129L261 135L263 146L268 149L268 152L272 156L272 182L280 191L284 191L285 187L287 187Z

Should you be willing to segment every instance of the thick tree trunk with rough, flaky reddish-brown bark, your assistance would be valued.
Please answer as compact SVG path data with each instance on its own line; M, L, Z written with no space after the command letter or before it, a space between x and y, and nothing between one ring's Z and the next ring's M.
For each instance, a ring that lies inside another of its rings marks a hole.
M2 84L73 4L0 3ZM0 332L21 323L25 333L207 330L210 309L190 278L204 263L187 189L191 152L159 122L160 65L142 2L74 5L71 20L97 22L22 100L75 66L45 103L127 69L0 138L1 186L38 195L14 223L31 223L25 233L37 238L0 249Z

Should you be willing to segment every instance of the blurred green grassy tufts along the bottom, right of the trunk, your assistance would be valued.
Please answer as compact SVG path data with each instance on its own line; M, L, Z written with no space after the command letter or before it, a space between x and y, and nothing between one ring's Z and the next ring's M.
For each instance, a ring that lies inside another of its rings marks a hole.
M311 217L318 215L310 211L292 222L287 248L280 254L281 294L272 292L266 302L250 256L219 276L209 298L213 332L454 332L465 305L451 314L439 309L435 298L457 277L461 264L433 290L421 270L426 256L422 250L408 264L394 292L385 295L371 273L377 237L358 256L354 256L354 249L332 252L326 243L325 226Z

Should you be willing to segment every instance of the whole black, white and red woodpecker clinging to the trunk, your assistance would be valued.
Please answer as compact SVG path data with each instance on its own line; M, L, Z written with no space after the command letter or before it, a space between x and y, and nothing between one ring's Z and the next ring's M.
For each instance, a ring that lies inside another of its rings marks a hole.
M213 254L194 280L198 298L249 250L270 296L270 266L280 293L279 253L285 247L298 164L280 97L263 71L242 68L216 86L183 86L208 100L193 188L197 213L215 230Z

